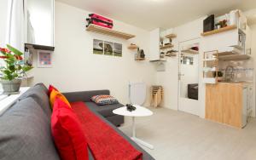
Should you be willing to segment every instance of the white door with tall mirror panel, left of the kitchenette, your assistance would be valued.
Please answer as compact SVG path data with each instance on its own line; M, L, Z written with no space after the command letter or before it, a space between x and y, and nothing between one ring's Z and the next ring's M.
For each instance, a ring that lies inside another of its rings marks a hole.
M200 39L179 43L178 111L199 116L199 49Z

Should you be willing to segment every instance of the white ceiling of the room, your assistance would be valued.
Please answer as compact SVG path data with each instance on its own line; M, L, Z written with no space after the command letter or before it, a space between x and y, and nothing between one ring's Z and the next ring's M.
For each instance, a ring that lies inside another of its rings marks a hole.
M146 30L171 28L206 14L256 8L255 0L56 0ZM256 19L256 15L255 15Z

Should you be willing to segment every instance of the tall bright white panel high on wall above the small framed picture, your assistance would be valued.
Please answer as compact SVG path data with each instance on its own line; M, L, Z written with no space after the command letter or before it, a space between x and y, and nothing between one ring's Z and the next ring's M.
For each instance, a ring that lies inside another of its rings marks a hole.
M26 0L26 43L54 46L54 0Z

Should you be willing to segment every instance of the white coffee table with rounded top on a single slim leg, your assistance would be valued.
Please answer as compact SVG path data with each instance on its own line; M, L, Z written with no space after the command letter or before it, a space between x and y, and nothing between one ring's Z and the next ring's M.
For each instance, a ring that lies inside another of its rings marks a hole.
M121 116L128 116L128 117L132 117L132 137L131 140L136 141L137 143L143 145L143 146L147 146L149 149L153 150L154 146L148 144L147 142L140 140L136 137L136 126L135 126L135 117L146 117L146 116L151 116L153 115L153 112L148 110L147 108L143 107L143 106L137 106L134 105L136 107L135 111L128 111L126 109L126 106L120 107L118 109L113 110L114 114L118 114Z

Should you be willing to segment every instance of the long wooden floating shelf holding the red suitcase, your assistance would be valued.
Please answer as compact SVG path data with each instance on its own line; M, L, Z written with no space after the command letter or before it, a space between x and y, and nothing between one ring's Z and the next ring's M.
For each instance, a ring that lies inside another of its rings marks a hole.
M123 38L126 40L131 39L132 37L135 37L135 35L132 35L132 34L128 34L128 33L121 32L121 31L114 31L114 30L108 29L106 27L96 26L96 25L92 25L92 24L86 28L86 31L102 33L102 34L105 34L108 36L119 37L119 38Z

